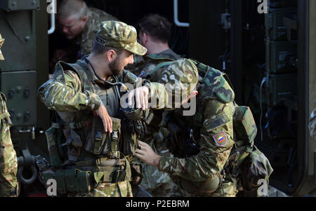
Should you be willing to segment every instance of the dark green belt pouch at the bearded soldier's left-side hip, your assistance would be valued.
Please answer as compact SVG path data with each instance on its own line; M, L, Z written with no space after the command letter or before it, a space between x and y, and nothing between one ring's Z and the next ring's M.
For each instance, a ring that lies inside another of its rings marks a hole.
M58 170L56 172L58 193L81 193L86 194L92 188L91 172L78 169Z

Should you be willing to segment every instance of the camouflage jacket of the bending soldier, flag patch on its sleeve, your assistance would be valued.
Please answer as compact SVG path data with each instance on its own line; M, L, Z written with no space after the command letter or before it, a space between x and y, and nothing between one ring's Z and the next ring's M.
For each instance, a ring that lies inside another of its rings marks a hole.
M179 120L175 121L176 124L185 132L181 130L173 135L171 153L179 156L183 147L177 144L182 137L190 135L199 144L199 151L194 156L182 158L163 156L159 170L175 178L203 182L219 175L235 144L232 124L235 93L223 74L211 67L204 76L200 76L197 90L194 116L183 116L183 109L173 111L173 118ZM173 118L171 116L170 121Z

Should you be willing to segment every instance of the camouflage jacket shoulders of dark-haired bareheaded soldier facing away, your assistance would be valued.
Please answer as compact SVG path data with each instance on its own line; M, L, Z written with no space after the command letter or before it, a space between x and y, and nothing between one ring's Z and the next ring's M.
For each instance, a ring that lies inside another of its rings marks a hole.
M177 55L171 49L164 50L162 53L157 54L145 56L136 55L134 57L134 64L127 67L127 69L133 72L136 76L145 79L146 76L158 66L158 64L162 62L172 62L174 60L178 60L179 58L180 55Z

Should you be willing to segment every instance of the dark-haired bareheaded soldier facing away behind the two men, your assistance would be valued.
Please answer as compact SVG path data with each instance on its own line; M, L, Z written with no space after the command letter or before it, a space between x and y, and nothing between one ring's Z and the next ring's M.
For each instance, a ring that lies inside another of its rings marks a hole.
M147 54L135 57L135 62L127 67L133 74L150 81L158 81L161 75L151 74L159 64L172 62L180 58L169 48L169 38L171 34L171 23L161 15L147 15L138 23L140 44L147 48ZM154 77L150 79L150 76ZM159 127L158 116L162 116L162 111L153 111L154 122L150 124L150 134L145 135L143 142L147 142L154 151L163 156L170 156L163 139L168 132L166 128ZM140 184L152 196L171 196L173 182L168 174L157 171L150 165L143 163L143 179ZM173 191L174 192L174 191Z

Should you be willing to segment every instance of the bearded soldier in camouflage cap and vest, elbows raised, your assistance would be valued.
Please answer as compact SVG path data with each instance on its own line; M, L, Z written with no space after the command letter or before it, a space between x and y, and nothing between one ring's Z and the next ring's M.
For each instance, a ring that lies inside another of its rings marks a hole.
M138 143L119 106L126 97L122 83L136 88L127 95L129 105L134 96L142 109L148 106L147 96L157 99L158 108L167 103L164 86L123 70L133 63L132 53L147 51L137 43L136 29L116 21L100 27L91 55L75 64L58 62L53 79L39 88L41 101L57 111L46 131L53 168L40 166L40 179L55 178L58 193L67 196L132 196Z

